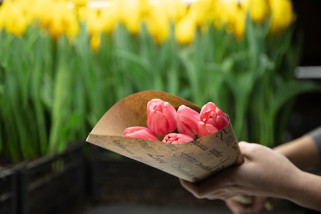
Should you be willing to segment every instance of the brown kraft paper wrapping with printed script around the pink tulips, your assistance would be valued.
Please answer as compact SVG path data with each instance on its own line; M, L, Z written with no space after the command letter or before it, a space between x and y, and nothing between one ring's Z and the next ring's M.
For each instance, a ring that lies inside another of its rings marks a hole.
M186 105L200 111L200 107L193 103L165 92L138 92L112 106L86 141L190 182L203 180L219 170L243 162L230 123L218 132L185 144L123 137L127 127L147 127L147 103L154 98L167 101L176 109Z

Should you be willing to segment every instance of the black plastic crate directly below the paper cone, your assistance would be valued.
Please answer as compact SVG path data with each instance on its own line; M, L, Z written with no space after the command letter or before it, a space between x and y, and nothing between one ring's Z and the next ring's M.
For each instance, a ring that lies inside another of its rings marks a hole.
M93 145L91 189L97 203L225 207L220 200L195 198L171 174L106 151Z

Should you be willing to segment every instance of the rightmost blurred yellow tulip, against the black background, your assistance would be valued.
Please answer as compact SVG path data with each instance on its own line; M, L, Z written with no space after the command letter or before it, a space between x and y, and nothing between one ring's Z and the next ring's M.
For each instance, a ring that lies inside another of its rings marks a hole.
M271 7L271 33L278 33L289 27L295 20L292 3L290 0L270 0Z

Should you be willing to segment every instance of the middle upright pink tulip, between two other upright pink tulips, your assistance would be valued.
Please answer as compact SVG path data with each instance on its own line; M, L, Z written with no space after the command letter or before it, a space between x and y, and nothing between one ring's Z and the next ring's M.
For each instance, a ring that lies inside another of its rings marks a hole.
M199 121L199 113L190 107L181 105L177 109L177 131L187 134L193 139L198 134L197 123Z

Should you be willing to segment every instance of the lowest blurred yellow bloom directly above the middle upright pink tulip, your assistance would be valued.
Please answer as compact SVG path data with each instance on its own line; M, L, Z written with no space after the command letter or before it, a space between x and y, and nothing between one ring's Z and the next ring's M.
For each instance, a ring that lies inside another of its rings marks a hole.
M196 21L193 16L185 16L175 25L175 38L180 44L190 44L194 41Z

